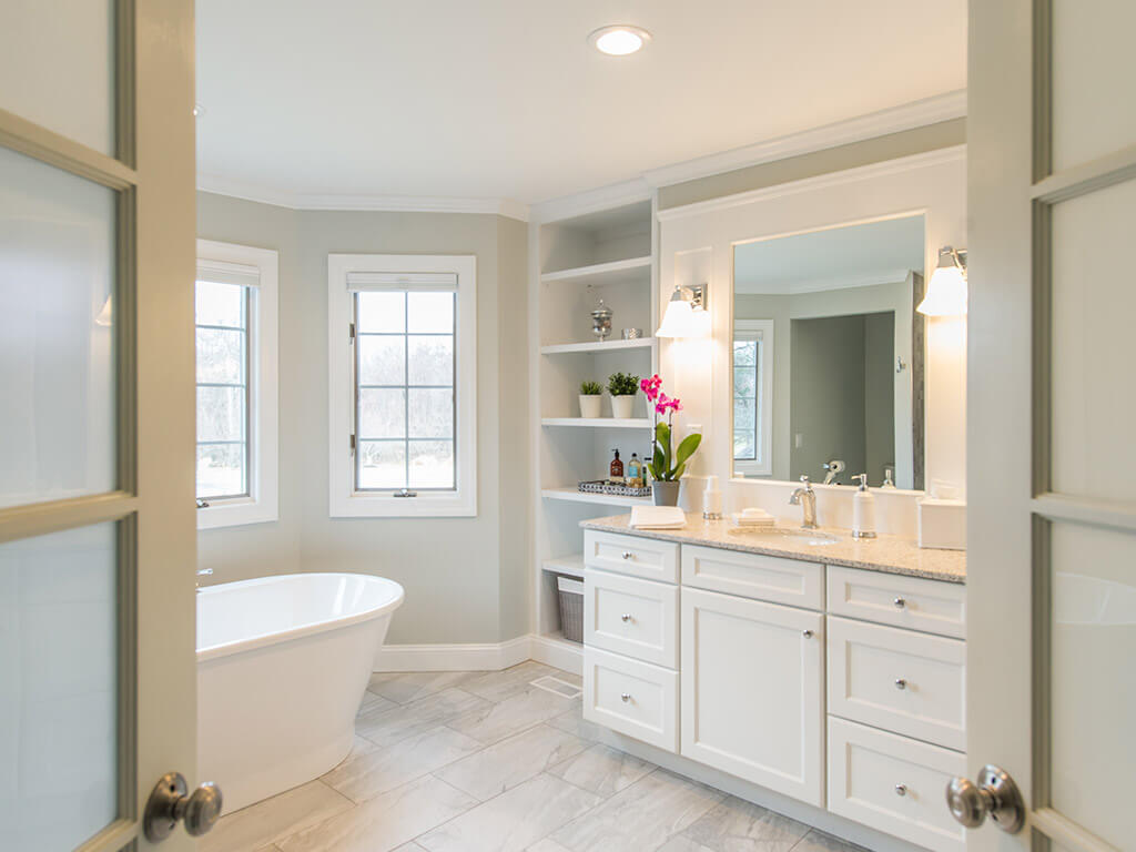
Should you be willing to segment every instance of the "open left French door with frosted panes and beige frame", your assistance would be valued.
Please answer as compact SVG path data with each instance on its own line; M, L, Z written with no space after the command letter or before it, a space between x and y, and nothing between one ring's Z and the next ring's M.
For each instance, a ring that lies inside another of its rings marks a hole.
M0 3L3 850L194 779L192 109L192 0Z

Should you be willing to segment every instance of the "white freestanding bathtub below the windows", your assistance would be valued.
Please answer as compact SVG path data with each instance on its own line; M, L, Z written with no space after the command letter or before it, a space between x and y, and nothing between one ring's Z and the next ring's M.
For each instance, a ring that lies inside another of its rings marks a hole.
M346 757L354 717L402 603L394 580L291 574L198 594L198 777L225 812Z

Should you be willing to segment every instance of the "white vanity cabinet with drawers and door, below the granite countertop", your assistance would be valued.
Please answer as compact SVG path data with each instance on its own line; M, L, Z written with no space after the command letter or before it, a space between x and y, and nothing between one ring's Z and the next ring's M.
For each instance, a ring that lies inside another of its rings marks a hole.
M963 852L966 590L586 529L584 717L932 852Z

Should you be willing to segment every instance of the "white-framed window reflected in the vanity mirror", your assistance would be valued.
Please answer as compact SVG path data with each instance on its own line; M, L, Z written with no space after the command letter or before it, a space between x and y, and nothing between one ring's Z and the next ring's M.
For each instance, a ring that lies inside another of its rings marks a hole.
M743 476L772 474L771 319L740 319L734 325L734 470Z

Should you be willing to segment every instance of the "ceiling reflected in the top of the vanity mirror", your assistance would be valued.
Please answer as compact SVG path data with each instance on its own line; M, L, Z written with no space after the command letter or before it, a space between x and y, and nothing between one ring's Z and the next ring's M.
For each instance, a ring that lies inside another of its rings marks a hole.
M924 268L924 217L812 231L734 249L737 293L805 293L891 284Z

